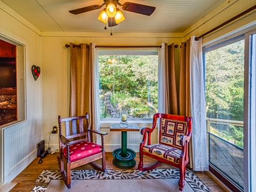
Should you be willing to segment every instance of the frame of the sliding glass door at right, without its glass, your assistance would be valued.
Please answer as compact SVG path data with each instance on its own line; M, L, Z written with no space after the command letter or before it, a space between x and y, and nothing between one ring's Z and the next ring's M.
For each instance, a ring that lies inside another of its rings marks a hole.
M256 66L251 63L251 35L256 34L256 22L243 26L230 34L223 35L215 40L203 44L203 58L205 53L220 48L227 44L245 39L244 63L244 189L240 189L226 176L221 174L209 162L210 174L219 179L232 191L253 192L256 189ZM256 40L255 40L256 41ZM256 49L256 46L255 46ZM254 50L256 52L256 50ZM256 53L255 53L256 54ZM205 60L204 76L205 76ZM256 59L254 61L256 63ZM205 81L204 81L205 82ZM252 129L254 128L254 129ZM209 143L209 142L208 142ZM252 148L254 146L254 148Z

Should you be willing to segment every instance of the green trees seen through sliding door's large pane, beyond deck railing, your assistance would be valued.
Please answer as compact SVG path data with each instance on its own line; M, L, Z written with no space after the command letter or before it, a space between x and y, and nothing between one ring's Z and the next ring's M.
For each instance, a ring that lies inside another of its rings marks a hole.
M244 40L205 54L207 117L244 120ZM230 125L230 132L214 127L225 140L243 146L243 129Z

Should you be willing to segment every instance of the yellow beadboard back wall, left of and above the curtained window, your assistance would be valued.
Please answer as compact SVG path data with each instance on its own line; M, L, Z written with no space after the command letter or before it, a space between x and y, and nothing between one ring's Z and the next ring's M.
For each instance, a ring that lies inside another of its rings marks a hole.
M109 37L109 35L107 37L72 37L64 35L61 37L42 36L44 140L48 140L50 131L54 125L57 125L57 116L59 114L63 117L68 116L70 50L64 47L65 44L95 42L98 45L158 45L162 42L179 44L181 41L181 38L171 37ZM176 49L176 54L179 58L179 49ZM57 145L57 135L51 136L51 143ZM108 144L106 142L106 145Z

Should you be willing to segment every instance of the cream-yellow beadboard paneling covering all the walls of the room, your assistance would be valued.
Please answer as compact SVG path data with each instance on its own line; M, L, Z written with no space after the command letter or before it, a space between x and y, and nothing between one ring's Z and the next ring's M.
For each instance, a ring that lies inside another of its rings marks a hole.
M26 122L12 126L4 131L5 146L4 149L4 166L5 172L9 173L15 165L19 165L26 159L32 157L36 148L36 143L44 138L48 141L49 133L52 127L57 125L57 115L68 116L69 111L69 49L64 45L70 42L90 43L95 42L101 45L155 45L162 42L168 44L180 44L191 35L201 35L212 27L220 24L230 17L242 12L243 10L256 4L256 0L229 0L232 5L226 6L225 9L219 8L213 10L220 12L214 17L203 17L196 24L192 25L181 37L96 37L96 36L42 36L41 32L32 24L20 17L16 12L7 7L0 1L0 33L11 37L14 40L23 41L26 44ZM225 1L227 4L228 0ZM237 27L246 25L255 21L256 13L251 13L246 17L239 19L234 24L224 27L223 29L209 35L204 42L209 41L217 36L226 34ZM207 21L205 19L208 19ZM179 49L176 51L176 58L179 58ZM41 59L42 58L42 59ZM41 64L42 61L42 64ZM176 70L179 71L179 62L176 61ZM31 66L38 65L41 67L41 76L35 81L31 76ZM179 79L177 77L177 79ZM43 119L42 119L43 118ZM108 131L107 129L103 129ZM135 145L140 141L141 136L135 132L135 135L128 135L129 144ZM157 135L157 134L156 134ZM21 137L22 136L22 137ZM106 145L109 148L120 144L119 135L108 135ZM155 136L156 138L156 136ZM57 134L51 136L51 144L58 145ZM7 145L8 144L8 145ZM21 149L22 148L22 149ZM11 151L10 149L13 149ZM18 151L22 150L22 153ZM11 158L14 158L10 160Z

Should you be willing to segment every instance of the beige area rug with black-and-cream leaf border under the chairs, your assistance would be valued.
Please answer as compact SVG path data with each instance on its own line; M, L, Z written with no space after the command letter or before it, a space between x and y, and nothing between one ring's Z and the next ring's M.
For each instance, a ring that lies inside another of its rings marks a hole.
M71 190L68 190L59 170L44 170L35 181L41 185L35 186L32 192L178 192L179 170L106 170L105 173L72 170L71 177ZM211 192L189 170L185 180L184 192Z

